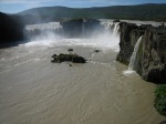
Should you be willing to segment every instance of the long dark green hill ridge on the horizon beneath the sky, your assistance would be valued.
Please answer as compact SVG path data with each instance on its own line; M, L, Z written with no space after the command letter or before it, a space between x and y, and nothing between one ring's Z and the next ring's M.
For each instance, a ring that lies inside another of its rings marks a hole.
M31 17L38 17L40 21L50 21L62 18L106 18L166 21L166 3L95 8L42 7L25 10L18 14L24 16L28 19L32 19Z

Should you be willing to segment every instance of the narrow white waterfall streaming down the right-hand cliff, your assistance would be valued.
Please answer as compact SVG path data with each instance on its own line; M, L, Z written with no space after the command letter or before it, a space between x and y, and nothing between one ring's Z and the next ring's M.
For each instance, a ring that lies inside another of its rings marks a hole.
M136 42L136 44L135 44L135 46L134 46L134 51L133 51L133 53L132 53L131 61L129 61L129 65L128 65L128 70L129 70L129 71L133 71L133 69L134 69L134 63L135 63L135 59L136 59L136 53L137 53L137 51L138 51L138 48L139 48L142 38L143 38L143 35L139 37L139 39L137 40L137 42Z

